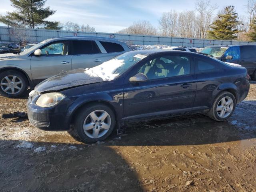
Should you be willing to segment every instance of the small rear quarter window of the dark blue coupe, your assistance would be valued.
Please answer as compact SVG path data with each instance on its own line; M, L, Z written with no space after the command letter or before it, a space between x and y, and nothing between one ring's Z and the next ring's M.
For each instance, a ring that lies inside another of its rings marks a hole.
M215 62L209 62L209 60L195 58L195 72L208 72L212 70L218 70L219 66Z

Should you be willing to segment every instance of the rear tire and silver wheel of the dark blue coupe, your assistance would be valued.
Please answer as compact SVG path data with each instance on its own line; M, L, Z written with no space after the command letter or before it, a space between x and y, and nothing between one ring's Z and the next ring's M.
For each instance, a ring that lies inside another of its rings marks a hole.
M230 118L230 116L232 116L235 108L236 98L234 97L234 95L227 91L221 92L215 98L212 107L208 112L208 116L216 121L225 121Z

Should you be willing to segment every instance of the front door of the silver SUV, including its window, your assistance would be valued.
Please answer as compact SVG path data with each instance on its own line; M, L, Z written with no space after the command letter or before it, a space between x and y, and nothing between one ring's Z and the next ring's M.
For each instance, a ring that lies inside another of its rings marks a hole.
M50 42L41 48L42 54L30 54L31 74L35 84L51 76L71 70L70 42Z

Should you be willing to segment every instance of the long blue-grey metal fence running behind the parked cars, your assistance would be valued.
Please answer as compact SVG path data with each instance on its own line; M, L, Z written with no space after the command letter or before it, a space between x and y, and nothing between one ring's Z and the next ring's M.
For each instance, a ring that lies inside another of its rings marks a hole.
M61 36L99 36L107 38L115 38L122 40L128 44L140 45L170 45L170 46L192 46L206 47L209 45L256 45L256 42L227 41L227 40L208 40L195 38L178 38L163 36L146 36L146 35L128 35L118 33L98 33L98 32L77 32L63 30L45 30L45 29L14 29L10 27L0 26L0 41L17 41L17 31L23 30L26 34L28 42L41 42L45 39Z

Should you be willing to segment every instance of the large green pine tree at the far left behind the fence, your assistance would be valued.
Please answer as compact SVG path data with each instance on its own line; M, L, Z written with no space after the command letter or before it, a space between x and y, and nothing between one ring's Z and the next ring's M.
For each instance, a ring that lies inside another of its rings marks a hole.
M56 11L50 7L44 8L46 0L10 0L16 8L13 12L6 12L6 16L0 16L0 22L8 26L20 26L28 28L60 29L60 23L46 21Z

